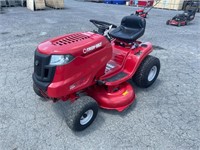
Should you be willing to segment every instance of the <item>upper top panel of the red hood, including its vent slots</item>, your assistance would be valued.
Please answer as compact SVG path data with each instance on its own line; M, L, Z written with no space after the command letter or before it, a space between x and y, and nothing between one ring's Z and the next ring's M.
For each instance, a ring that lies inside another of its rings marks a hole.
M77 32L52 38L41 43L38 51L42 54L73 54L80 55L85 48L101 42L101 47L108 43L108 40L93 32Z

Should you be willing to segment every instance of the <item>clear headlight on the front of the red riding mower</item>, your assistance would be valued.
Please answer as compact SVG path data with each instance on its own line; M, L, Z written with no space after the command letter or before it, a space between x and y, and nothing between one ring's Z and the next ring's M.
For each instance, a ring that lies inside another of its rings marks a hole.
M72 55L51 55L50 65L68 64L74 59Z

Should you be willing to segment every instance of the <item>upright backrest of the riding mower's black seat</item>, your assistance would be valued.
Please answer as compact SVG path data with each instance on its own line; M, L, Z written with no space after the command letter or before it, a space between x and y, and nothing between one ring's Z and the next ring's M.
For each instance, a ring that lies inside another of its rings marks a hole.
M141 29L145 28L146 21L142 17L131 15L131 16L125 16L121 21L121 25L126 28Z

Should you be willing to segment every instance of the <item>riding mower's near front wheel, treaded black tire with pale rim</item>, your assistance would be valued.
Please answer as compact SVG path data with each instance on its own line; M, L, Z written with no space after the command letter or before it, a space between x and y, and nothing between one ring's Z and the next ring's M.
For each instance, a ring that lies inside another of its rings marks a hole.
M80 97L67 110L67 125L74 131L82 131L92 124L97 113L98 104L93 98Z

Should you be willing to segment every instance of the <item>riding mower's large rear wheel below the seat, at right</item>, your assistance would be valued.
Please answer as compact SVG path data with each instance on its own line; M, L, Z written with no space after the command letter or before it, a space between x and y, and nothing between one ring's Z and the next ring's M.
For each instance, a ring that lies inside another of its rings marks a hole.
M132 80L142 88L151 86L158 77L160 60L148 55L141 63Z

